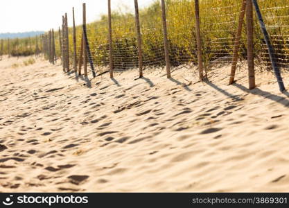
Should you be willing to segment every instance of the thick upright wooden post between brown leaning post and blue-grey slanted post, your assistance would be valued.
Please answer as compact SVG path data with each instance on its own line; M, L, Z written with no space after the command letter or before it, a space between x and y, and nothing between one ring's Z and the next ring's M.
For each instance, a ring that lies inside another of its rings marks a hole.
M246 3L246 21L247 21L247 62L249 75L249 89L255 88L254 71L254 25L253 25L253 4L251 0Z

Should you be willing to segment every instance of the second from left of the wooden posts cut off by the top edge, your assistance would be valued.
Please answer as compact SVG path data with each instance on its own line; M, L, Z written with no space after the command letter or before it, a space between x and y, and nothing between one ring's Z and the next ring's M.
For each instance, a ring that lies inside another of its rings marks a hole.
M135 26L137 28L137 49L139 51L139 78L143 77L143 51L141 49L141 27L139 24L139 3L134 0Z

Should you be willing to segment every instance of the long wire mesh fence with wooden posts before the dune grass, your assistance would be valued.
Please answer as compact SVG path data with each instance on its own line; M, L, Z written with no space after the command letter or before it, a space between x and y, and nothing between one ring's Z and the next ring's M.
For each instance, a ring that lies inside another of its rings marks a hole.
M112 12L114 0L107 0L107 15L92 24L86 24L84 3L82 26L75 25L73 8L71 35L67 14L62 17L55 52L61 57L64 71L68 72L71 64L81 76L83 65L84 76L89 76L88 70L93 76L109 71L112 78L114 71L138 68L142 77L146 69L161 67L170 78L170 70L186 68L192 74L198 69L200 80L205 71L209 80L219 74L232 84L235 74L244 67L240 60L247 60L249 89L253 89L256 66L269 71L272 67L281 71L289 67L289 0L258 0L259 13L253 7L254 0L159 0L141 10L141 0L133 1L134 14L121 14ZM274 48L273 56L259 15ZM42 41L45 54L49 42L45 38ZM13 42L12 51L19 47L22 45Z

